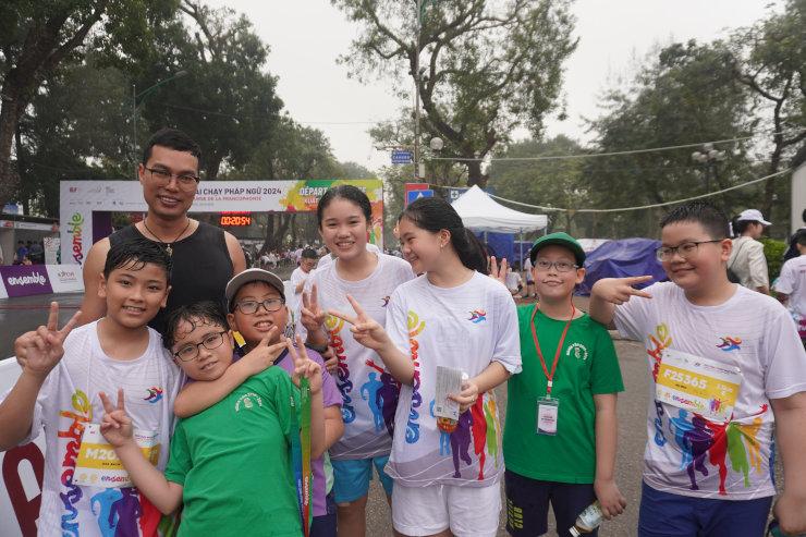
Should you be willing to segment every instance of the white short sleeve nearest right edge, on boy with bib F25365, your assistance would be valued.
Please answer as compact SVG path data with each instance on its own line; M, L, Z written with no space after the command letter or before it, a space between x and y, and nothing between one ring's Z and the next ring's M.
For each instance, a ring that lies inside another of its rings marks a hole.
M768 319L762 343L764 354L769 356L765 375L767 398L784 399L806 391L806 352L795 324L778 304Z

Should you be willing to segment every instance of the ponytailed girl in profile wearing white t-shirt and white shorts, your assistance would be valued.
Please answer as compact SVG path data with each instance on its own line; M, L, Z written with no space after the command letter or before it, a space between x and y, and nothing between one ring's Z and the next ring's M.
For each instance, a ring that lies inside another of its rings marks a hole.
M394 478L392 520L404 535L494 536L503 474L494 387L521 371L515 303L485 276L475 236L445 202L408 205L398 224L403 255L417 273L389 301L387 328L349 297L359 343L378 352L401 382L387 473ZM466 375L459 419L435 417L437 367Z

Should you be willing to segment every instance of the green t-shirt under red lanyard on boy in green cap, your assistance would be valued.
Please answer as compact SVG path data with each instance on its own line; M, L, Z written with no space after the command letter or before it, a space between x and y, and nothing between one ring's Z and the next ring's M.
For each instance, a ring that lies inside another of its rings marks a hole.
M615 347L607 329L587 314L571 322L551 389L551 398L560 401L557 435L537 435L537 401L546 396L548 381L529 326L534 307L529 304L517 308L523 371L506 385L506 469L546 481L594 483L594 394L624 390ZM538 310L535 324L546 367L551 373L566 321L551 319Z

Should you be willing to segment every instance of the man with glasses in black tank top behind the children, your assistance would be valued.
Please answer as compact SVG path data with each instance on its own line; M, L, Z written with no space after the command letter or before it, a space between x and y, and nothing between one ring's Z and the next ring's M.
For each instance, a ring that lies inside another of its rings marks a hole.
M143 152L137 175L148 212L133 223L98 241L84 264L84 302L81 322L103 316L98 297L98 274L110 245L143 236L162 246L172 257L168 306L149 322L162 332L166 315L182 305L223 300L233 274L246 268L243 249L234 235L187 216L196 195L202 150L185 133L162 129L151 136Z

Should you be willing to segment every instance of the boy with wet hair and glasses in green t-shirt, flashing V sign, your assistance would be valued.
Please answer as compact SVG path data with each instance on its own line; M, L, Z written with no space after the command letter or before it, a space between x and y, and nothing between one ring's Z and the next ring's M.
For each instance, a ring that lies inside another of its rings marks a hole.
M182 306L167 321L164 345L194 380L215 380L233 358L232 333L213 303ZM288 349L294 378L310 386L310 443L321 449L325 425L321 366L297 354L291 340L268 337L241 362L270 363ZM301 345L302 341L298 340ZM264 366L265 367L265 366ZM164 475L143 456L123 406L101 393L101 434L137 489L163 513L184 503L179 535L300 536L302 524L290 448L300 435L300 391L279 367L249 377L220 402L181 419L171 439Z

